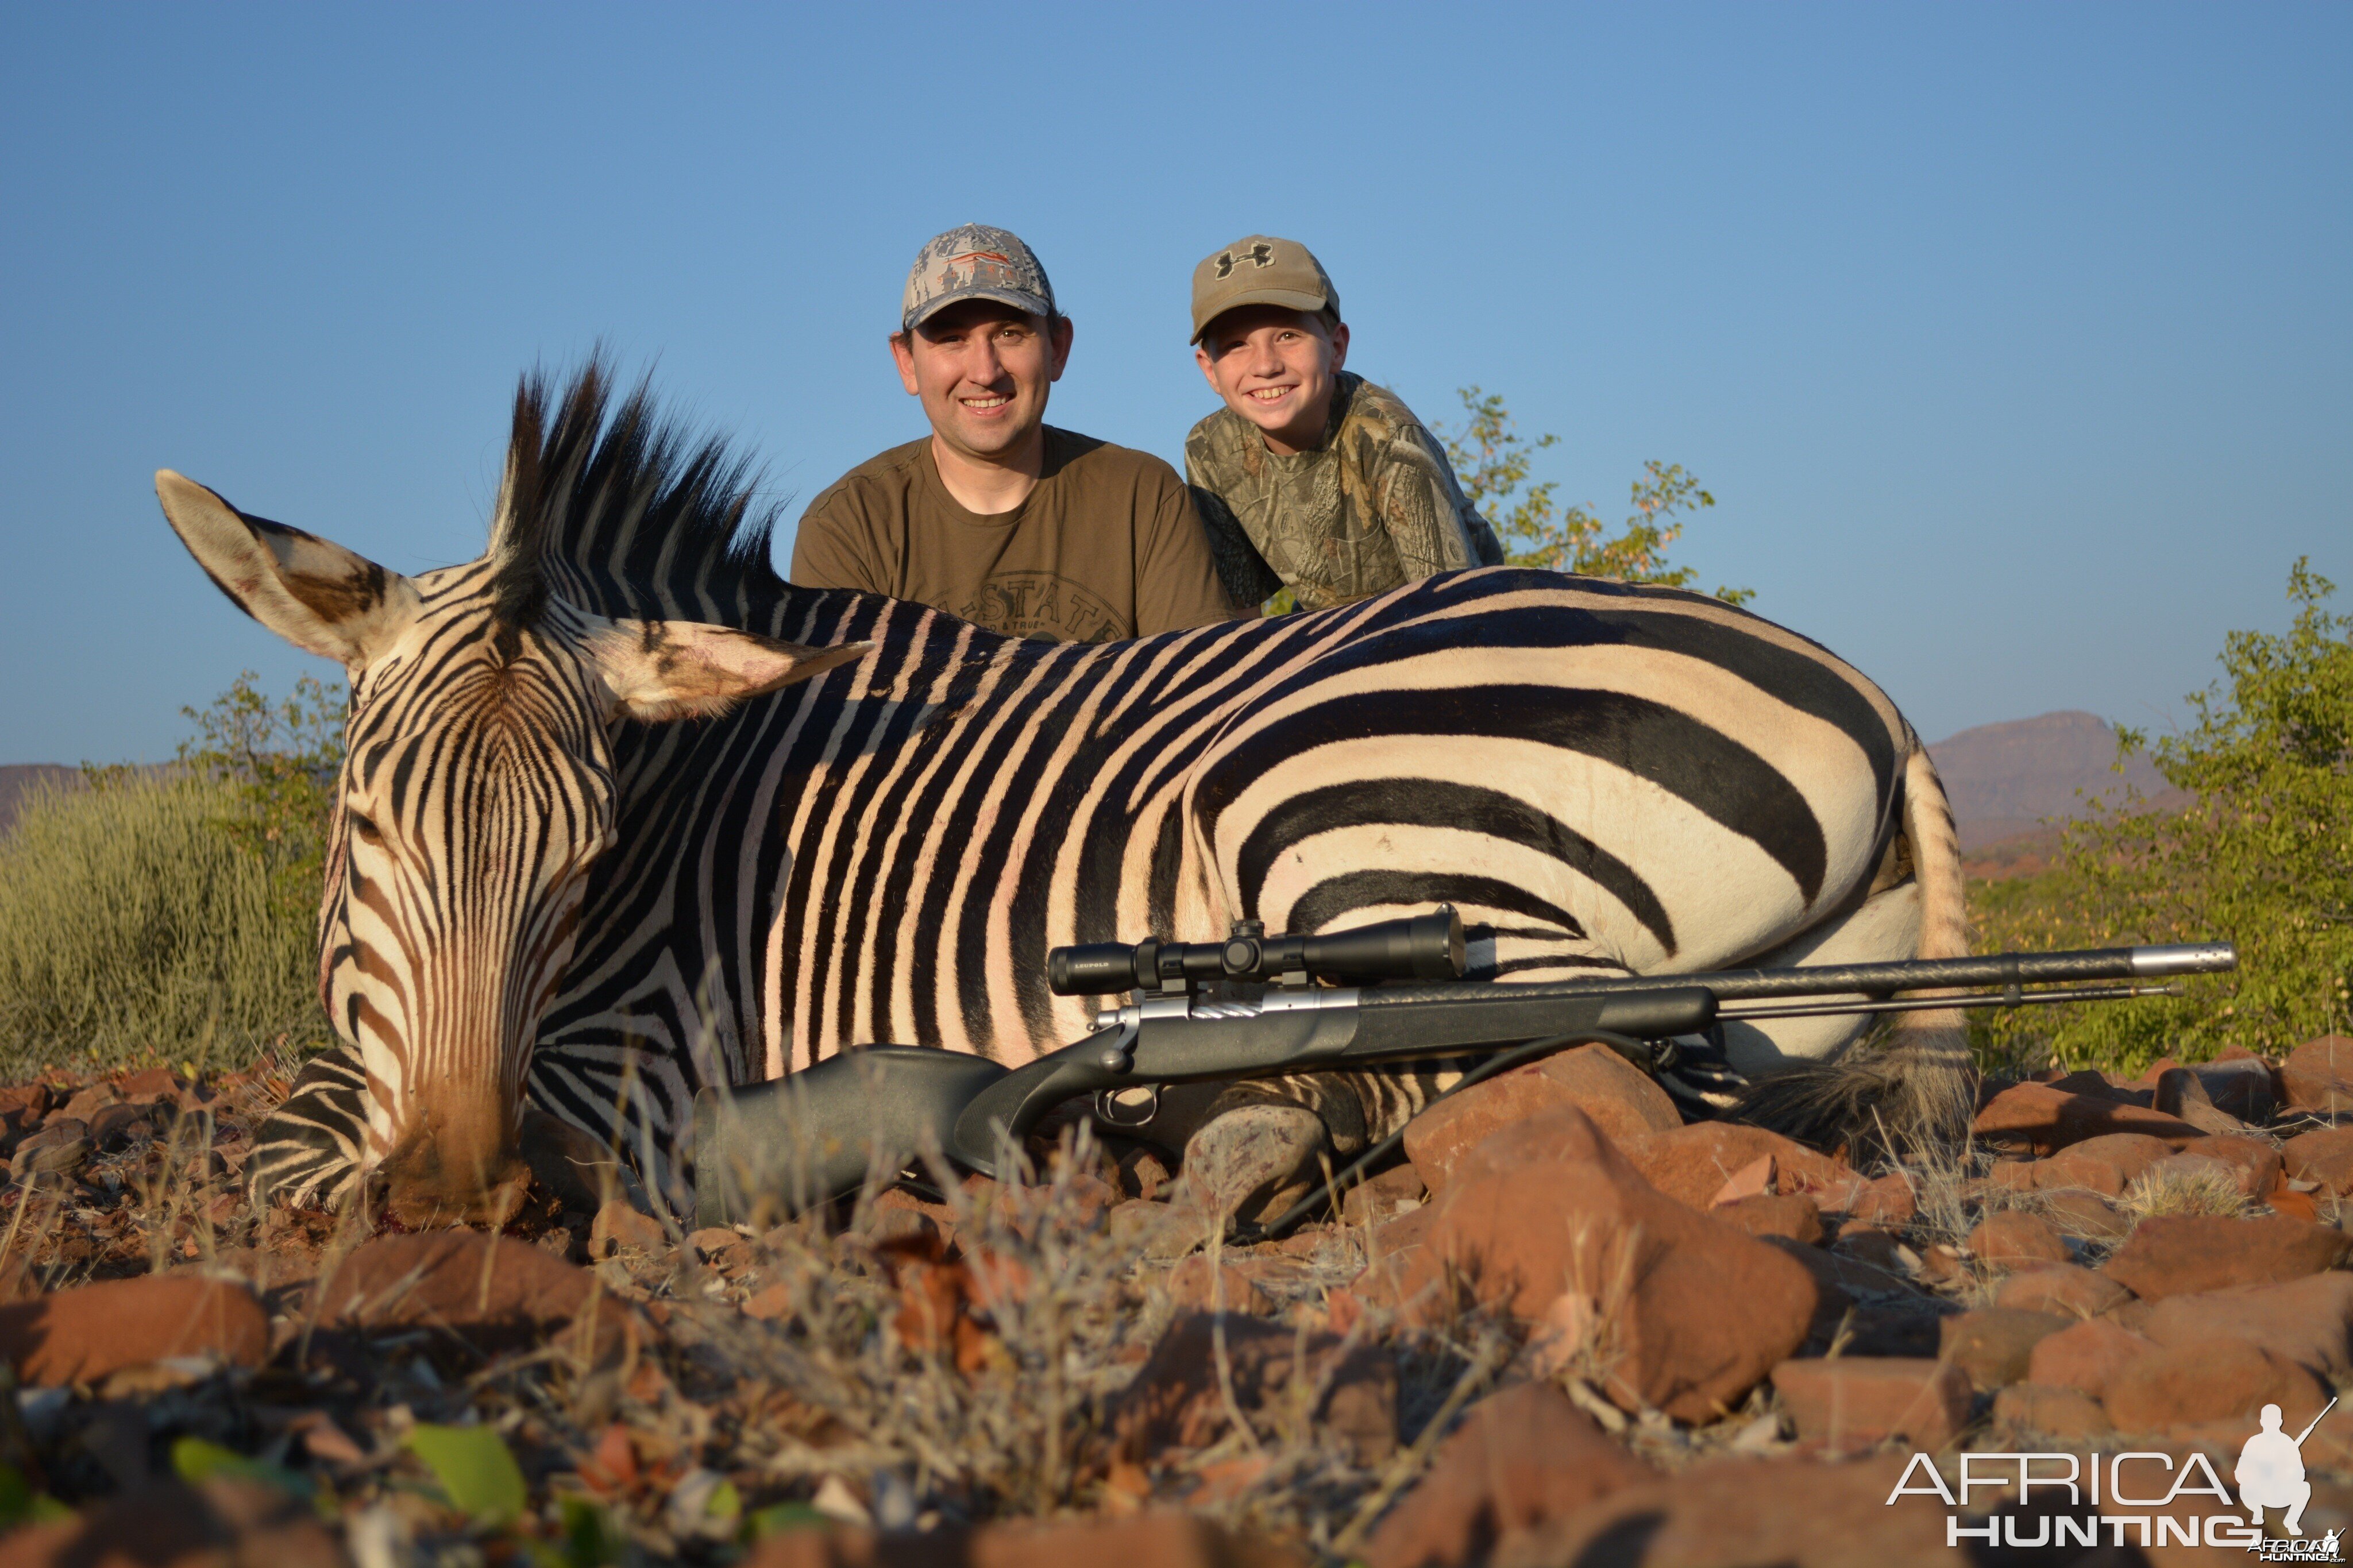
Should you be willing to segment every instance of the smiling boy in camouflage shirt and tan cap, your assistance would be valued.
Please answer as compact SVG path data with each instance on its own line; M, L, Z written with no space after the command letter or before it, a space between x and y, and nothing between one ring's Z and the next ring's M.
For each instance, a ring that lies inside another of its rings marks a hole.
M1193 360L1224 409L1193 425L1186 480L1226 590L1348 604L1504 545L1393 393L1341 369L1348 327L1322 263L1249 235L1193 268Z

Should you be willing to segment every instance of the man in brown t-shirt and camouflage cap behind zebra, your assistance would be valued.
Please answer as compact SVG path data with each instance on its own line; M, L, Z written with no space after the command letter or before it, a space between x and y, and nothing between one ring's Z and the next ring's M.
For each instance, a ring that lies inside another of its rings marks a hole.
M1176 470L1045 423L1071 317L1021 240L967 223L925 244L889 353L932 435L809 503L795 583L887 592L1061 642L1235 614Z

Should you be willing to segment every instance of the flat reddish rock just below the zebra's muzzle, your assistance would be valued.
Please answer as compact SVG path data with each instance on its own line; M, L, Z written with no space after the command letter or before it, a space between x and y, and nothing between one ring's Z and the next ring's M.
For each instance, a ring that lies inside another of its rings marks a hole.
M318 1286L322 1321L334 1328L442 1328L492 1352L544 1345L593 1293L588 1269L471 1229L376 1237ZM619 1309L609 1298L605 1305L616 1324Z

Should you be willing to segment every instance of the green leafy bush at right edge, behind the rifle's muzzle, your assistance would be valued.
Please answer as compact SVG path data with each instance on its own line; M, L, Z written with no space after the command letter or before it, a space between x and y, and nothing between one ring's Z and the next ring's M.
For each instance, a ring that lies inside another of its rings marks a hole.
M2353 990L2353 616L2297 562L2287 635L2231 632L2224 679L2193 693L2195 722L2146 748L2195 795L2184 811L2137 797L2071 823L2047 872L1977 889L1979 947L2238 943L2240 969L2179 999L2000 1013L1979 1025L1995 1058L2137 1070L2226 1046L2287 1051L2346 1030Z

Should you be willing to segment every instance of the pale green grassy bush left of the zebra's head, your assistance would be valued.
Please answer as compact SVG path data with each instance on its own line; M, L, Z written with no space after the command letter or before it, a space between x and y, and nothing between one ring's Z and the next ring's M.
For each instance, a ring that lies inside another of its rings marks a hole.
M240 1065L320 1044L320 858L339 696L254 677L167 769L85 766L0 839L0 1074L42 1063Z

